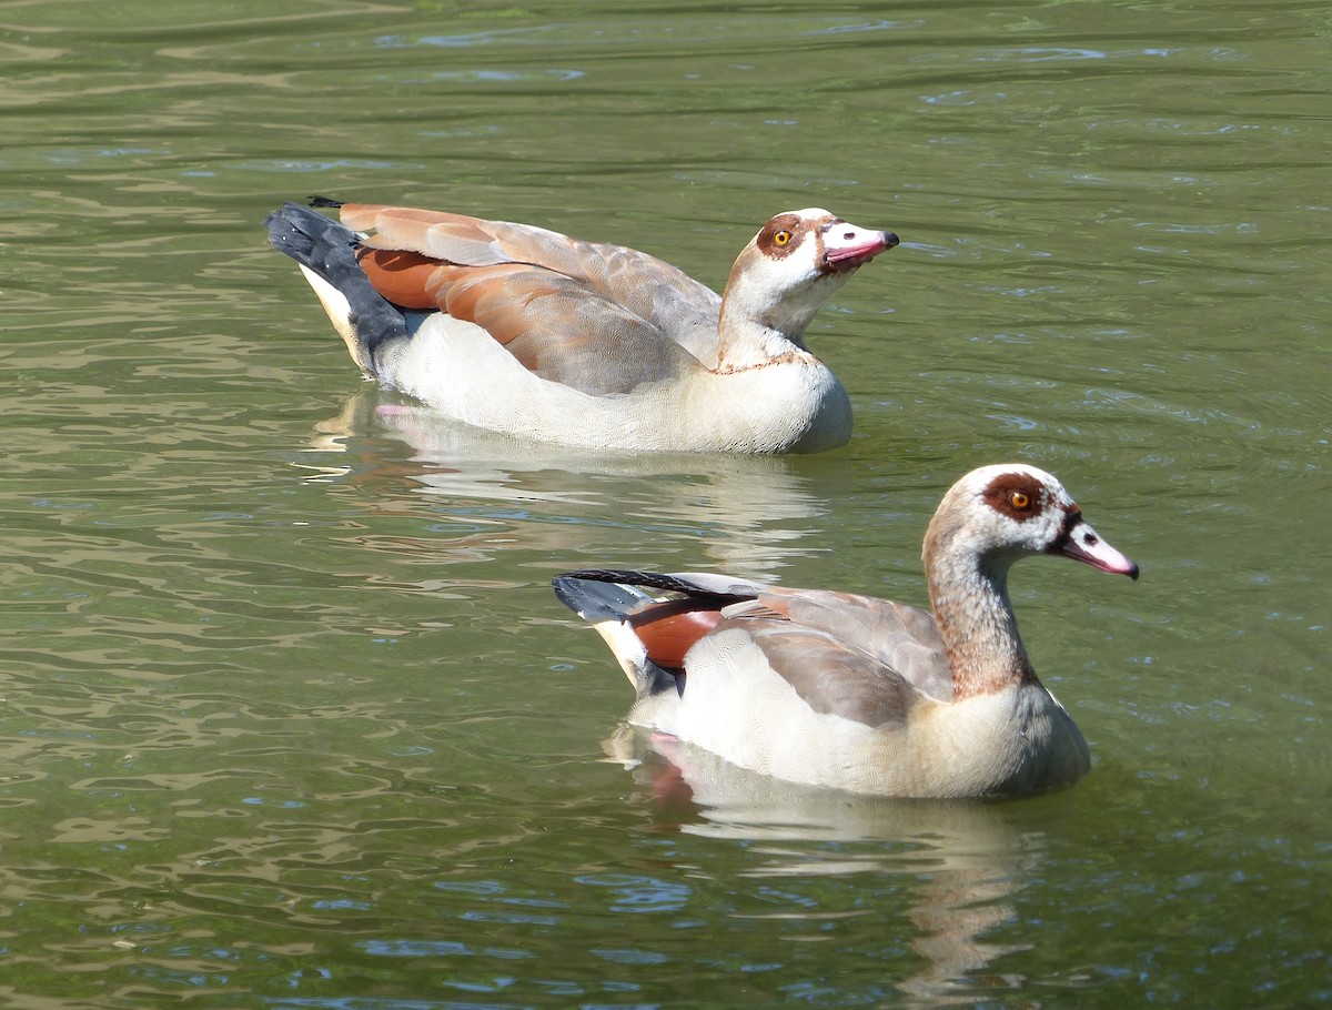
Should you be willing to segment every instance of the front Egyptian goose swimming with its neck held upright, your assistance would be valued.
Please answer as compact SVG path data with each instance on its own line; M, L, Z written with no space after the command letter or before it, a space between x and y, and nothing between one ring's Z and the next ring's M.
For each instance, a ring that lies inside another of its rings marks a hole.
M851 793L1020 794L1091 766L1018 637L1008 566L1027 554L1138 578L1058 480L1000 464L952 485L930 521L932 613L718 574L570 572L554 588L638 692L634 725Z

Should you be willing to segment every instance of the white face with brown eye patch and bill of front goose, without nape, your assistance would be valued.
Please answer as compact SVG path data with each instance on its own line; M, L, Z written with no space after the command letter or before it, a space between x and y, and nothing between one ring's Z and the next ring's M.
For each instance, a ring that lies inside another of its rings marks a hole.
M1064 486L1035 466L982 466L958 481L944 501L964 513L956 541L978 554L1063 554L1138 578L1138 565L1096 536Z

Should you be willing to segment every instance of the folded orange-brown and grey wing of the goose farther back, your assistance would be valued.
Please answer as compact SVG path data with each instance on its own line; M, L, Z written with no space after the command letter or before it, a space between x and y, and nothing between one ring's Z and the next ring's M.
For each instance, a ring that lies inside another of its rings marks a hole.
M626 393L715 354L721 297L635 249L414 208L341 217L373 232L360 261L384 297L474 322L542 378Z

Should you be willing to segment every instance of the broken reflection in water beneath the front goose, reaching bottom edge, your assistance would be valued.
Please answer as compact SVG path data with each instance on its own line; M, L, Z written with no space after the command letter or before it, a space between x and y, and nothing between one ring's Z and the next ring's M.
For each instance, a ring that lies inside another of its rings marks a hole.
M746 875L807 878L888 874L902 882L902 913L919 930L924 966L898 989L930 1006L972 1002L984 986L1011 985L995 962L1027 945L988 943L1018 918L1012 897L1042 871L1051 811L1072 797L1032 803L919 801L852 795L738 767L715 754L629 724L603 742L631 771L663 831L747 842ZM759 861L762 857L762 861ZM830 913L874 915L882 907ZM775 915L819 919L815 910Z

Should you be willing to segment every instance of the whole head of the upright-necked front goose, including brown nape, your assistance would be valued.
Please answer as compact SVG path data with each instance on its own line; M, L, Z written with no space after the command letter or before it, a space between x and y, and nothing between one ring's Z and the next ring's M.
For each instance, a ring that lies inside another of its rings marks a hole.
M1064 485L1026 464L968 473L944 494L926 533L927 570L971 558L1000 586L1008 566L1031 554L1058 554L1138 578L1138 565L1096 534Z

